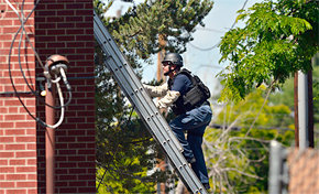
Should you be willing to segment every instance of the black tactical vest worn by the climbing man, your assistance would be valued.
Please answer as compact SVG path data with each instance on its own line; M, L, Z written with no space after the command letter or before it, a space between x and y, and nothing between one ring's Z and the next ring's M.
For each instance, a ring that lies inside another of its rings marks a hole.
M182 115L186 111L189 111L194 108L201 106L202 104L208 104L207 99L210 97L209 88L200 80L200 78L196 75L191 75L191 72L183 68L178 72L173 79L168 80L168 89L172 89L174 84L174 79L179 74L186 75L191 82L191 88L183 96L179 96L183 100L176 100L173 106L173 112L175 115ZM179 99L178 98L178 99Z

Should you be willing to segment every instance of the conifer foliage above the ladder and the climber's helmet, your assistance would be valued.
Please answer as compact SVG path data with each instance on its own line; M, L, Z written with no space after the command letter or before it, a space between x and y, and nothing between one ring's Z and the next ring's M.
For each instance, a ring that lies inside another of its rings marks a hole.
M211 0L146 0L107 26L124 54L133 61L148 58L161 50L183 53L195 28L212 8ZM166 42L161 44L160 39Z

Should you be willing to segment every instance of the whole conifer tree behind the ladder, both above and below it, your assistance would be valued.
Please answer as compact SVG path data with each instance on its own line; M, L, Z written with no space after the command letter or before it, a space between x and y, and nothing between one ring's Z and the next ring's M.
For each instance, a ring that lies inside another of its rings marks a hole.
M113 1L95 1L103 14ZM141 63L161 50L158 35L167 41L166 51L184 52L195 26L212 8L210 0L145 1L119 19L103 18L109 32L141 76ZM97 186L102 193L153 193L157 182L173 176L155 171L155 158L163 158L152 137L132 110L110 72L103 66L101 50L96 48L97 101ZM131 116L132 115L132 116ZM101 183L101 184L99 184Z

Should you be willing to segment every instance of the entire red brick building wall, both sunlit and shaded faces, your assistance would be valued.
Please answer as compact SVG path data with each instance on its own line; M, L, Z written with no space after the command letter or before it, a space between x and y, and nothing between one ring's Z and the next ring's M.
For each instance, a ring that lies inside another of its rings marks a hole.
M21 6L22 0L15 2ZM25 2L28 12L34 1ZM56 129L56 193L96 193L92 25L91 0L40 1L28 22L42 62L52 54L62 54L70 62L67 76L73 100L63 125ZM12 91L8 53L19 26L14 12L0 0L0 194L45 193L45 128L26 114L16 95L8 93ZM26 91L21 99L33 115L45 120L43 103L28 94L30 89L22 79L18 44L13 47L11 66L16 89ZM43 77L43 71L28 44L23 44L21 54L23 71L35 87L35 75ZM56 119L59 114L57 110Z

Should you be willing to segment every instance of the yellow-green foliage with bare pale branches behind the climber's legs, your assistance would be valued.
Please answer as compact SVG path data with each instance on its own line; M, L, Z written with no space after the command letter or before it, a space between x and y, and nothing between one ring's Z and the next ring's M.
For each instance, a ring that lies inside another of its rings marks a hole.
M290 146L294 140L289 108L263 106L263 94L256 89L245 100L227 105L215 120L224 129L207 129L204 149L217 193L266 193L270 141Z

